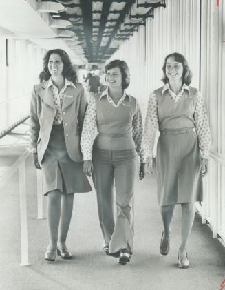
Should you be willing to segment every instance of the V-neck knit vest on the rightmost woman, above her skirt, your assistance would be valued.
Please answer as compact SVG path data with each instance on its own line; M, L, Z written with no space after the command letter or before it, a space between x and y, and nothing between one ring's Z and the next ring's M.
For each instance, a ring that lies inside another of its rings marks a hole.
M158 124L159 130L180 129L195 127L195 107L197 105L197 89L189 87L190 93L184 90L178 101L173 101L169 92L164 92L163 87L155 90L158 103Z

